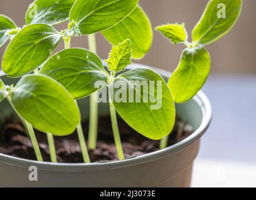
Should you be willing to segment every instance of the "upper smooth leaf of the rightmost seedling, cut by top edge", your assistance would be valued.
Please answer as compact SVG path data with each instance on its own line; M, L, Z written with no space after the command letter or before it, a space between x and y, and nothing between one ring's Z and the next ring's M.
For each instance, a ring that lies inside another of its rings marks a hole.
M193 29L193 42L206 45L220 39L232 29L241 11L242 0L211 0Z

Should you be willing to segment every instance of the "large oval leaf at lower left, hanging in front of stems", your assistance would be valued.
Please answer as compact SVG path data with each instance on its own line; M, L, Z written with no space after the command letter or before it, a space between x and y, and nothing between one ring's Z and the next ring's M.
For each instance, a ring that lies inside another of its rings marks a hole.
M80 122L71 94L45 75L24 76L13 89L11 103L36 129L55 136L73 133Z

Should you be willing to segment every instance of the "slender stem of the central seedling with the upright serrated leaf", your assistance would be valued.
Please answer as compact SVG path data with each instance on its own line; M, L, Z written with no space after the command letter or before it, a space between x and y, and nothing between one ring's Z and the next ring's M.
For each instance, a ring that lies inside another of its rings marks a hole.
M122 149L122 143L121 143L119 128L118 128L118 124L117 124L117 115L115 113L115 106L113 103L109 103L109 104L110 104L110 116L111 116L115 146L117 148L118 158L120 160L122 160L122 159L124 159L124 151Z

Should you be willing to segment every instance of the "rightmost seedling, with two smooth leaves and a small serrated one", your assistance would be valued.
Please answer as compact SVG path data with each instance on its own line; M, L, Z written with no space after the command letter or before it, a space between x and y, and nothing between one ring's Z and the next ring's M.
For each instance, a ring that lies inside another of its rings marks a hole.
M237 22L242 11L242 0L211 0L192 31L192 42L183 24L157 26L173 44L186 46L178 68L168 81L176 103L185 103L200 91L208 78L211 67L210 54L205 46L225 36ZM168 138L161 141L166 148Z

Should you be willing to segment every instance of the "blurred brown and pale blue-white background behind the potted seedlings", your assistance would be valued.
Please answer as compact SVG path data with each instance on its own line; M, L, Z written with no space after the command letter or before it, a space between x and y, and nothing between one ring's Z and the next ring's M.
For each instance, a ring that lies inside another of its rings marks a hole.
M0 0L0 13L18 26L30 0ZM152 26L185 22L188 33L201 17L208 0L140 0ZM207 46L211 54L211 74L203 91L213 106L213 122L203 137L195 162L193 186L256 187L256 1L244 0L243 11L232 31ZM67 24L57 26L66 29ZM107 58L110 45L97 35L101 58ZM0 49L2 59L4 48ZM75 38L72 47L87 47L87 37ZM147 56L136 63L173 71L184 46L173 46L154 31L154 43ZM58 50L63 49L63 44Z

